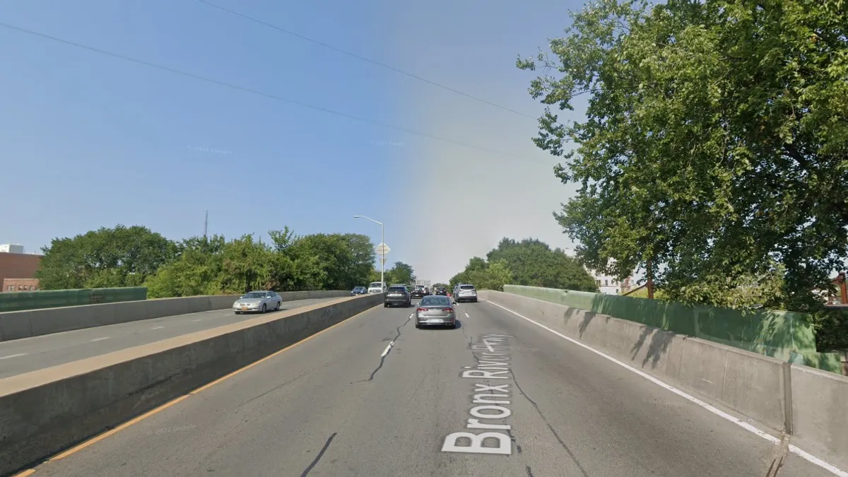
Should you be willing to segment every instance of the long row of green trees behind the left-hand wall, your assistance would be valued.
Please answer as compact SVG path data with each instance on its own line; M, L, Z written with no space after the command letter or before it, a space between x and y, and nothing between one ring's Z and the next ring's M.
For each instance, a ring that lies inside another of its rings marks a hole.
M150 298L353 289L370 278L376 254L365 235L296 236L288 227L269 235L271 244L252 235L176 242L146 227L101 228L54 239L36 276L42 289L143 285Z

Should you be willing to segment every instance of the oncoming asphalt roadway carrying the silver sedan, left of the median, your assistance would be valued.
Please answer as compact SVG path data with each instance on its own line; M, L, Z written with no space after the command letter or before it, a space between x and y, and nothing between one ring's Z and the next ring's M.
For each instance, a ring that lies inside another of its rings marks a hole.
M329 300L338 299L283 301L280 309L282 311L291 310ZM253 313L236 315L229 309L201 311L95 328L75 329L63 333L42 334L22 340L2 341L0 342L0 379L58 366L65 362L100 356L133 346L147 345L182 334L195 333L254 317Z

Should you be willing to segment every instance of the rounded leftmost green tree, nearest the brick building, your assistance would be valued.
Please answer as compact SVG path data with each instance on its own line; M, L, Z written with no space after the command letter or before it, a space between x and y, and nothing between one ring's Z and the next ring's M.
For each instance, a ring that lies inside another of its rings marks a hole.
M118 225L53 239L42 252L36 272L42 289L84 289L139 286L173 260L178 247L147 227Z

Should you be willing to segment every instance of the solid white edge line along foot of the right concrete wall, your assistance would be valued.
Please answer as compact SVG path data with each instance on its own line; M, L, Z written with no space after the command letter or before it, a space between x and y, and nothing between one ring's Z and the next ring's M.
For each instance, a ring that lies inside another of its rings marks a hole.
M594 354L596 354L598 356L603 356L606 359L610 360L611 362L614 362L617 365L621 366L622 368L628 369L629 371L632 371L633 373L639 374L639 376L643 377L644 379L648 379L650 382L660 386L661 388L666 389L666 390L670 390L674 394L676 394L680 397L683 397L684 399L687 399L689 401L692 401L700 407L705 408L707 411L712 412L713 414L716 414L717 416L720 416L722 418L725 418L728 421L739 425L740 427L742 427L745 430L748 430L748 431L750 431L750 432L752 432L756 435L759 435L760 437L762 437L766 441L772 442L775 445L780 444L780 440L777 437L775 437L771 434L768 434L767 432L765 432L761 429L758 429L755 426L748 424L745 421L740 420L739 418L735 418L734 416L731 416L727 412L723 412L722 410L717 409L716 407L712 407L711 405L707 404L704 401L701 401L697 397L686 394L682 390L678 390L677 388L675 388L671 384L666 384L666 383L662 382L661 380L654 378L653 376L651 376L648 373L644 373L643 371L639 371L639 369L633 368L632 366L630 366L626 362L618 361L616 358L609 356L602 351L595 350L593 347L586 345L584 343L581 343L580 341L577 341L577 340L575 340L571 337L568 337L565 334L561 334L560 332L556 331L555 329L544 326L544 324L542 324L542 323L537 323L537 322L533 321L532 319L525 317L525 316L523 316L522 314L520 314L516 311L510 310L506 306L501 306L497 303L494 303L494 301L489 301L489 300L486 300L486 301L488 303L491 303L494 306L498 306L499 308L503 308L504 310L509 311L510 313L515 315L516 317L523 318L523 319L527 320L528 322L533 323L534 325L538 326L539 328L544 328L544 329L550 331L550 333L553 333L553 334L559 336L563 340L570 341L575 345L581 346L581 347L583 347L583 348L585 348L589 351L592 351ZM819 466L823 469L826 469L833 474L839 475L840 477L848 477L848 472L845 472L844 470L834 466L833 464L828 463L828 462L826 462L826 461L824 461L824 460L822 460L822 459L820 459L816 456L813 456L811 453L803 451L796 446L793 446L793 445L790 444L789 445L789 452L792 452L796 456L799 456L799 457L805 459L806 461L808 461L810 463L813 463L813 464L815 464L815 465L817 465L817 466Z

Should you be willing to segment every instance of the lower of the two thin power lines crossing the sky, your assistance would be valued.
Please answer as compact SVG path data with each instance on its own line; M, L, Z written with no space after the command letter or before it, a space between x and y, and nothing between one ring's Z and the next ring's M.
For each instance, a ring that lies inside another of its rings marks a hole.
M255 95L261 96L263 98L274 99L276 101L281 101L283 103L295 104L295 105L298 105L298 106L301 106L301 107L304 107L304 108L315 109L317 111L321 111L321 112L331 114L331 115L342 116L342 117L345 117L345 118L348 118L348 119L351 119L351 120L354 120L354 121L360 121L360 122L373 124L373 125L376 125L376 126L382 126L382 127L388 128L388 129L394 129L396 131L408 132L408 133L414 134L416 136L427 137L427 138L435 140L435 141L441 141L441 142L444 142L444 143L451 143L451 144L455 144L457 146L462 146L464 148L478 149L478 150L486 151L488 153L499 154L499 155L513 157L513 158L517 158L517 159L523 159L523 160L527 159L526 157L518 155L518 154L510 154L510 153L505 153L503 151L499 151L499 150L495 150L495 149L488 149L488 148L485 148L483 146L477 146L477 145L474 145L474 144L462 143L460 141L455 141L454 139L450 139L448 137L439 137L439 136L436 136L434 134L430 134L428 132L416 131L414 129L410 129L410 128L403 127L403 126L394 126L392 124L388 124L388 123L385 123L385 122L382 122L382 121L371 120L371 119L364 118L364 117L361 117L361 116L350 115L348 113L343 113L341 111L336 111L336 110L333 110L333 109L327 109L327 108L323 108L321 106L315 106L315 104L307 104L307 103L303 103L303 102L300 102L300 101L296 101L294 99L282 98L280 96L276 96L275 94L263 93L261 91L251 89L251 88L248 88L248 87L241 87L241 86L238 86L238 85L234 85L232 83L227 83L225 81L218 81L218 80L215 80L215 79L212 79L212 78L208 78L206 76L195 75L194 73L189 73L187 71L176 70L175 68L170 68L170 66L158 65L158 64L155 64L155 63L151 63L149 61L145 61L143 59L136 59L136 58L132 58L132 57L120 54L120 53L112 53L112 52L109 52L109 51L106 51L106 50L103 50L103 49L100 49L100 48L89 47L89 46L83 45L81 43L71 42L70 40L64 40L63 38L59 38L59 37L56 37L56 36L50 36L50 35L47 35L45 33L40 33L38 31L27 30L25 28L21 28L20 26L8 25L8 24L2 23L2 22L0 22L0 26L3 26L4 28L8 28L9 30L20 31L21 33L26 33L28 35L41 36L42 38L47 38L48 40L52 40L53 42L64 43L66 45L70 45L70 46L73 46L73 47L76 47L76 48L86 49L86 50L92 51L94 53L100 53L100 54L104 54L104 55L107 55L107 56L111 56L113 58L131 61L132 63L136 63L138 65L145 65L145 66L149 66L151 68L156 68L158 70L165 70L165 71L168 71L170 73L174 73L176 75L187 76L187 77L195 79L195 80L206 81L206 82L209 82L209 83L212 83L212 84L215 84L215 85L219 85L219 86L222 86L222 87L229 87L229 88L232 88L232 89L236 89L238 91L242 91L244 93L255 94ZM533 159L540 160L538 158L533 158ZM551 164L550 162L546 162L546 161L544 161L544 162L545 162L545 164Z

